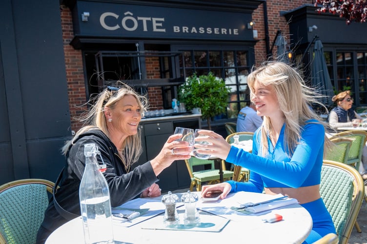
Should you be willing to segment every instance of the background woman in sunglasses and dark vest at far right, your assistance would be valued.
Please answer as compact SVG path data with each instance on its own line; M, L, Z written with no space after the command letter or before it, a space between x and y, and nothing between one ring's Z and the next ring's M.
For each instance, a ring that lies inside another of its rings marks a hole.
M332 128L351 127L353 119L362 120L362 117L352 109L353 99L350 97L349 90L340 92L331 100L336 103L336 107L329 115L329 124Z

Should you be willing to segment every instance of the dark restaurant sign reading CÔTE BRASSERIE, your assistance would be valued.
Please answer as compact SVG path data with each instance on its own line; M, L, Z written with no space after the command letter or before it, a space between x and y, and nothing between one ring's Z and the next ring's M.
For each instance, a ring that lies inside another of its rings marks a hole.
M245 28L249 13L86 1L78 1L74 11L78 36L253 40Z

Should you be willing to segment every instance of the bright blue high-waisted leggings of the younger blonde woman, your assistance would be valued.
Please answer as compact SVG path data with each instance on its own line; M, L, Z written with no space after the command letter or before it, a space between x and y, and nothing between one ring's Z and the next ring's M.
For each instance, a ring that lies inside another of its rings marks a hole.
M334 223L321 198L310 203L301 204L301 206L307 209L312 217L313 224L311 233L304 244L314 243L328 233L336 233Z

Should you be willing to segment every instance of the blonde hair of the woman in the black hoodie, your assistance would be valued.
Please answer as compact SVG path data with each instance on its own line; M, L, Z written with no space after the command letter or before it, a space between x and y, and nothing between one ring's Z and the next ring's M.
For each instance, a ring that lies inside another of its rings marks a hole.
M106 107L114 110L117 102L119 102L126 95L132 95L136 98L140 106L140 111L142 117L144 116L144 112L147 111L148 102L145 96L139 95L135 92L130 86L122 83L121 81L117 81L116 86L119 88L118 90L111 90L108 87L104 89L100 94L96 97L89 100L88 104L91 105L89 111L87 111L79 120L84 122L83 127L75 134L72 140L65 143L62 147L62 153L66 155L70 146L74 144L74 140L79 137L82 133L93 130L100 129L102 132L110 138L109 132L107 130L106 118L104 116L104 109ZM122 163L125 166L125 169L128 170L132 163L138 161L139 156L142 154L142 144L140 139L140 133L136 135L128 136L123 142L121 154L124 155L122 157Z

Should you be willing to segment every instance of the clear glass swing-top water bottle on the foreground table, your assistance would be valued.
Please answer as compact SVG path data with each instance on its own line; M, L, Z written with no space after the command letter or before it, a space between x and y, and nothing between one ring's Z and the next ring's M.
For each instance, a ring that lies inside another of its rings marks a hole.
M110 193L97 163L99 153L94 143L84 145L85 169L79 199L86 244L114 243Z

